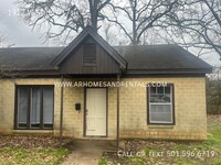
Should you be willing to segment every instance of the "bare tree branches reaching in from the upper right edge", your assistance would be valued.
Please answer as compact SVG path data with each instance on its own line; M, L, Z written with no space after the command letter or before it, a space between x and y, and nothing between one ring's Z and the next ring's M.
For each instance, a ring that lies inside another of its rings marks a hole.
M179 0L173 14L161 22L167 41L217 52L221 57L221 1ZM178 40L179 38L179 40Z

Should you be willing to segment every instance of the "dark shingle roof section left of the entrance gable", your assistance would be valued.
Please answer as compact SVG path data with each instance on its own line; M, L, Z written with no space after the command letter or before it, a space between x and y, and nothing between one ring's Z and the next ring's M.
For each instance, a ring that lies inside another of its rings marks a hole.
M52 69L51 62L64 47L0 48L0 66L15 70Z

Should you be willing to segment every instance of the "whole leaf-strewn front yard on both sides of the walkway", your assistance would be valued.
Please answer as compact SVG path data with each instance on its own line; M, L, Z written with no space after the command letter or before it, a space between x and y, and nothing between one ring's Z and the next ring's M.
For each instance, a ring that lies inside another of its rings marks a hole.
M208 117L208 140L203 142L134 140L120 143L125 148L104 153L99 165L220 165L221 116ZM67 147L59 144L59 139L49 136L0 135L0 164L59 165L69 155Z

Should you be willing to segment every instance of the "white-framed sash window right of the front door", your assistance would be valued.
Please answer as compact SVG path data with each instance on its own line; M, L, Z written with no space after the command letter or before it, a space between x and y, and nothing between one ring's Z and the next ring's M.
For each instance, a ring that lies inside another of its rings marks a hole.
M148 88L148 123L173 124L173 86Z

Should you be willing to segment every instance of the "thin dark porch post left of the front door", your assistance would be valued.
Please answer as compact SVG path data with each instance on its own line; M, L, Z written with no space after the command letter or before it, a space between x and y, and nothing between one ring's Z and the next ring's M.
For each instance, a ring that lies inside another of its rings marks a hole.
M63 141L63 97L64 97L64 87L63 87L64 77L61 77L61 110L60 110L60 146L62 146Z

